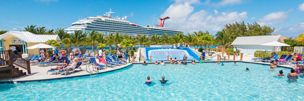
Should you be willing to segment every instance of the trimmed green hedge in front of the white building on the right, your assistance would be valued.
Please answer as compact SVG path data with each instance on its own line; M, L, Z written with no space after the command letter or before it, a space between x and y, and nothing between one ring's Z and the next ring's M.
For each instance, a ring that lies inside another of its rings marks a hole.
M273 51L255 51L254 52L254 57L258 57L258 58L265 58L265 57L268 57L268 56L271 56L271 53ZM283 52L283 51L280 51L280 52L275 52L276 54L278 54L278 59L281 57L281 55L285 54L285 55L289 55L289 54L293 54L295 52ZM296 52L298 54L304 54L304 52Z

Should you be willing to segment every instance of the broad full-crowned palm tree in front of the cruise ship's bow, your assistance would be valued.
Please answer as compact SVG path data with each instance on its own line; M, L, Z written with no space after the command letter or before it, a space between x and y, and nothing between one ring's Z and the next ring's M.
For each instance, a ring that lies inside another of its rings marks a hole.
M81 43L84 43L85 40L87 40L87 34L88 33L82 33L81 30L74 30L74 33L71 33L69 38L65 38L62 41L68 42L65 44L67 46L74 45L76 48L78 48L78 45L83 45Z

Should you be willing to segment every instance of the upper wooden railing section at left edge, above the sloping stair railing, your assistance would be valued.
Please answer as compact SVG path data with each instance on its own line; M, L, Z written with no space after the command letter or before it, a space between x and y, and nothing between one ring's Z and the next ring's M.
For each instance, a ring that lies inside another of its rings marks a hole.
M0 51L0 66L12 66L12 59L10 58L10 53L12 53L12 50Z

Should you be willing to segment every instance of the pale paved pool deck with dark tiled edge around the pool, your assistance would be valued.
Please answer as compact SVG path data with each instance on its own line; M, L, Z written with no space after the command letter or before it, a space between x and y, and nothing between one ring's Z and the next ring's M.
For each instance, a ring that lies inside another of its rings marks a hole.
M194 50L194 49L193 49ZM226 55L225 55L226 56ZM223 62L250 62L250 63L258 63L258 64L262 64L262 65L270 65L270 63L265 63L265 62L254 62L251 61L252 58L256 58L253 55L244 55L243 56L243 60L240 61L240 56L236 57L236 61L233 61L233 56L230 56L230 60L226 58L226 61ZM214 57L213 60L217 60L217 57ZM134 63L142 63L143 61L138 62L135 60ZM167 62L167 61L164 61ZM188 61L189 62L189 61ZM191 62L191 61L190 61ZM196 61L198 62L198 61ZM217 62L217 61L203 61L203 62ZM147 62L147 63L153 63L153 62ZM112 72L114 70L118 70L118 69L122 69L124 67L130 66L133 63L127 63L125 65L120 65L120 66L116 66L116 67L107 67L106 69L101 69L98 70L99 73L102 72ZM278 65L278 66L282 66L284 68L292 68L293 66L289 66L288 65ZM16 66L18 67L18 66ZM59 73L58 75L52 72L49 72L47 75L47 70L50 70L50 68L54 68L55 66L45 66L45 67L41 67L41 66L31 66L31 74L27 74L25 76L20 76L20 77L16 77L16 78L12 78L12 79L0 79L0 83L7 83L7 81L12 81L13 83L17 83L17 82L36 82L36 81L50 81L50 80L56 80L56 79L67 79L67 78L74 78L74 77L83 77L83 76L90 76L90 73L86 71L87 67L86 65L81 65L81 69L79 68L76 69L78 71L74 72L74 73L67 73L66 76L64 75L64 73ZM92 70L92 66L90 66L91 70ZM23 72L26 72L25 69L19 68L19 70L23 70ZM92 72L93 74L96 72Z

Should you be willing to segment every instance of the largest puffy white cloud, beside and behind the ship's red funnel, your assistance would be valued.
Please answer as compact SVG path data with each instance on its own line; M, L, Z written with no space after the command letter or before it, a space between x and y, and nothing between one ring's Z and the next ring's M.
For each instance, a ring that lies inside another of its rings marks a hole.
M164 26L171 29L183 30L185 33L193 31L217 32L224 28L226 23L240 22L247 19L247 12L214 12L216 15L208 15L205 10L193 12L194 7L189 3L174 3L161 15L170 17ZM158 21L159 22L159 21Z

